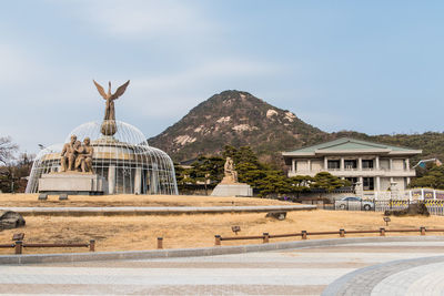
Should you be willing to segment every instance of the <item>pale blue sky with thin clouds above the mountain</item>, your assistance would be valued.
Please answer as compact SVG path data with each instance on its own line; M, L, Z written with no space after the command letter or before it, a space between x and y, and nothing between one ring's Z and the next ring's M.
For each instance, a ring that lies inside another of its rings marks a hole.
M155 136L224 90L326 132L442 132L443 1L22 0L0 9L0 136L20 151L102 120Z

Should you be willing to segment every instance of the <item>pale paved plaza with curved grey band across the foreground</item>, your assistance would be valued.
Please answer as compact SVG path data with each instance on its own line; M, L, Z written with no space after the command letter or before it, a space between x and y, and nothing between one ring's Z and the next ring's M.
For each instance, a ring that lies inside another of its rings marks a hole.
M443 239L0 266L14 295L441 295L443 279Z

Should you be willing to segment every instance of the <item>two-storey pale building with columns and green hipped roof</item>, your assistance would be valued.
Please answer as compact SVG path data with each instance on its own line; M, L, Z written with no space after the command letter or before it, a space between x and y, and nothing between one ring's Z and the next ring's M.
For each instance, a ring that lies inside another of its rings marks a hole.
M422 150L342 137L282 155L290 166L289 177L329 172L362 184L364 191L387 191L393 183L400 190L408 185L416 175L410 159L421 153Z

